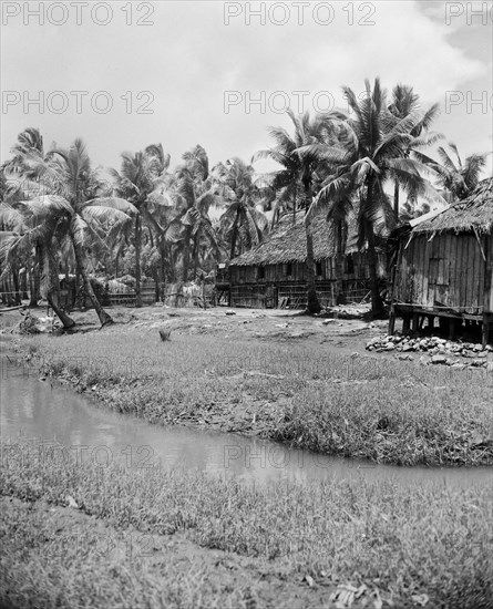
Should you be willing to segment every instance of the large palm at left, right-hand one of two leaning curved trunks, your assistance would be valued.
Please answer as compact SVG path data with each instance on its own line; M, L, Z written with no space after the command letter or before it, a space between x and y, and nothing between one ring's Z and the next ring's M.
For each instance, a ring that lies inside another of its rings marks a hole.
M121 198L106 196L82 140L78 138L69 149L55 148L43 158L37 152L25 155L30 175L42 193L25 200L33 213L45 215L57 223L53 236L59 241L68 237L73 248L88 296L97 313L101 326L112 323L112 318L99 302L86 269L88 245L97 241L105 247L105 235L134 214L135 207Z

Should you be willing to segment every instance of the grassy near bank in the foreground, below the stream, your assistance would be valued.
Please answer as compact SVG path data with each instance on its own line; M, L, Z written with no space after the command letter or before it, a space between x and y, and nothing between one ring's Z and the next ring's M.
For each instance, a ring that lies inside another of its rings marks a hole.
M2 607L329 607L343 585L355 607L491 607L484 486L254 487L21 451L0 474Z

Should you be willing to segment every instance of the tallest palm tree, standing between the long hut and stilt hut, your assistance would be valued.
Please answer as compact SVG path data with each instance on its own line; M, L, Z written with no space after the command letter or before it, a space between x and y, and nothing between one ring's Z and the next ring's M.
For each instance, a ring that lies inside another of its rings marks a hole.
M427 166L413 158L405 158L403 154L413 142L411 134L422 117L409 114L397 121L388 110L379 79L376 79L373 89L366 81L366 91L367 95L359 101L351 89L343 87L353 117L339 122L342 128L338 135L339 143L308 146L301 153L316 155L320 161L338 167L320 189L309 215L327 206L329 200L345 197L356 200L358 245L360 249L367 247L371 311L373 317L378 317L383 312L383 302L377 272L377 226L379 223L388 227L393 224L392 206L384 184L398 180L400 187L413 196L442 199L423 177L430 173Z

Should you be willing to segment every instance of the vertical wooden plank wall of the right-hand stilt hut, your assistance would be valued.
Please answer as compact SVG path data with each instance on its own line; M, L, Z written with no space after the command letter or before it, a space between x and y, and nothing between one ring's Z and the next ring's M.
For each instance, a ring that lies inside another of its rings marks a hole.
M493 236L490 236L492 239ZM415 235L402 254L396 295L400 302L480 314L485 264L474 234ZM493 293L490 312L493 311Z

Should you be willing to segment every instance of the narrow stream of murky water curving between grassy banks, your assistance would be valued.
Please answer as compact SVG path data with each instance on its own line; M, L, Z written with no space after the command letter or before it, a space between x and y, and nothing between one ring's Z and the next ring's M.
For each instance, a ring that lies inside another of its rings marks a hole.
M3 359L3 358L2 358ZM374 465L291 450L277 443L188 427L161 427L129 415L99 409L86 398L52 386L49 381L2 365L1 440L20 435L64 454L129 467L195 469L266 483L279 479L394 478L399 484L429 483L468 487L491 484L492 468L424 468ZM39 447L37 448L39 451ZM39 454L39 453L38 453Z

